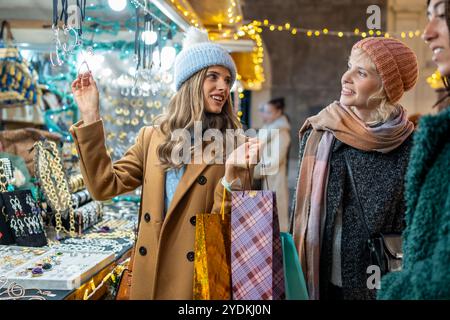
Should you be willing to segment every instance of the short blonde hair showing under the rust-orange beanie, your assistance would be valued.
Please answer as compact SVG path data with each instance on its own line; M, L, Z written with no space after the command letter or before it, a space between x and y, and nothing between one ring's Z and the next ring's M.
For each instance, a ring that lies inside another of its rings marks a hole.
M354 48L352 50L352 57L355 59L355 61L368 65L371 69L378 73L372 59L370 59L369 55L365 53L361 48ZM384 90L383 82L381 82L380 89L371 97L369 97L367 104L369 104L369 101L371 100L377 101L377 103L379 103L379 106L372 112L370 121L366 122L369 126L387 122L395 118L400 112L400 106L389 101L386 91Z

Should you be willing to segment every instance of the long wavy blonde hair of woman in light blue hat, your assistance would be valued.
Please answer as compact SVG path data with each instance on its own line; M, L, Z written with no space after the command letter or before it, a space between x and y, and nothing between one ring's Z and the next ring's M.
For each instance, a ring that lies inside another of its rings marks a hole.
M206 79L208 68L204 68L189 78L172 97L167 112L154 121L164 136L164 141L157 148L157 155L161 166L165 170L178 169L183 163L173 162L172 152L181 153L186 142L183 137L177 137L172 141L172 133L177 129L191 130L195 121L202 122L202 129L218 129L225 133L226 129L241 128L239 119L233 112L231 95L227 98L222 112L213 114L206 112L203 83ZM194 147L191 147L191 154Z

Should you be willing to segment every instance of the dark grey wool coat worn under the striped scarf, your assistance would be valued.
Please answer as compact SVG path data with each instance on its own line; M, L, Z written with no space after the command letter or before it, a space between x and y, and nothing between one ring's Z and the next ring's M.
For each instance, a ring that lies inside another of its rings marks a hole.
M309 129L300 141L299 166L303 157ZM320 299L328 298L331 277L333 231L338 209L342 205L341 276L344 299L368 300L376 298L376 289L367 288L367 267L370 265L366 241L368 239L351 188L344 154L353 171L364 214L372 234L402 232L406 211L404 177L408 165L412 139L387 154L355 149L335 139L330 155L330 169L326 190L326 218L320 251ZM296 193L295 193L296 194ZM295 208L295 200L294 206Z

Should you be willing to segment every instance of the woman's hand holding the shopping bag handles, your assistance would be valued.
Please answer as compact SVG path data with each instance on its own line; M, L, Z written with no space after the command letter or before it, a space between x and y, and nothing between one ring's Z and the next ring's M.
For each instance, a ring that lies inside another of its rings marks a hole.
M257 138L249 138L227 158L225 162L225 180L232 182L243 170L253 170L261 158L262 142Z

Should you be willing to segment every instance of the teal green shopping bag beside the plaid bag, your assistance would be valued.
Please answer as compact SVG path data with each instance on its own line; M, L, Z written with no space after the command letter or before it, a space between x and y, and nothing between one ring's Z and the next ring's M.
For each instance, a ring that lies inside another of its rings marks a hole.
M286 232L281 232L280 235L281 246L283 248L286 300L308 300L305 277L303 276L292 235Z

